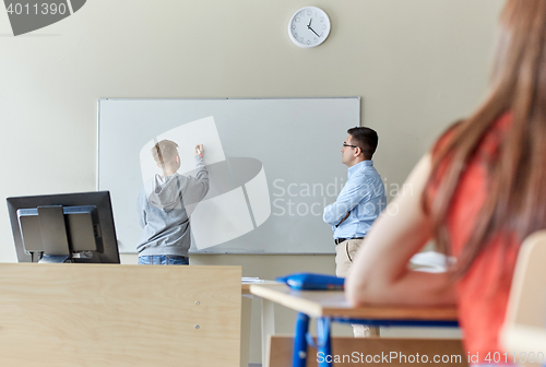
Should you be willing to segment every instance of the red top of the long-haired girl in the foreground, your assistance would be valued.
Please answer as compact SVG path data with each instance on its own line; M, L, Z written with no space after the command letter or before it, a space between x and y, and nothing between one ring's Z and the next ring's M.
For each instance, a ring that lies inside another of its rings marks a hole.
M502 116L494 123L460 178L448 214L451 249L455 258L460 257L486 200L488 176L484 157L496 154L510 123L510 115ZM444 134L438 144L449 137L450 133ZM520 245L509 234L495 236L456 284L463 345L470 355L478 354L480 364L487 363L485 358L488 355L492 359L496 352L501 355L500 363L512 362L499 345L499 330L505 320Z

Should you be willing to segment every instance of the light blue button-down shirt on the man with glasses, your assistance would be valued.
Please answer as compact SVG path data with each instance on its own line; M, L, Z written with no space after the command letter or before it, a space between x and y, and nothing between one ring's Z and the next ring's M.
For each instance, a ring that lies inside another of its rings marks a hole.
M337 200L324 208L323 220L332 226L334 238L365 237L387 205L384 191L373 161L363 161L349 167L347 182ZM347 213L351 213L348 217L336 227Z

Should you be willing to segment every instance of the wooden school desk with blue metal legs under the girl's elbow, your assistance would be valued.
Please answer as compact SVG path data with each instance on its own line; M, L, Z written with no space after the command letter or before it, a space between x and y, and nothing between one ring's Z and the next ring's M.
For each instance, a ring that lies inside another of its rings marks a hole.
M294 339L293 366L306 365L309 317L317 318L318 350L331 355L330 325L332 321L369 325L456 327L453 307L392 307L348 305L342 291L293 291L286 285L251 285L250 293L298 311ZM320 366L331 366L329 363Z

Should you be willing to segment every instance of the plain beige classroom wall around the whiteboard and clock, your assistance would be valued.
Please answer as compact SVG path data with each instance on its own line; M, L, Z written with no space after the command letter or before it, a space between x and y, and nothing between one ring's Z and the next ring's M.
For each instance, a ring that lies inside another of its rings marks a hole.
M94 190L99 97L361 96L363 123L380 134L376 166L387 183L401 183L483 96L502 3L317 0L332 32L316 49L286 34L289 16L310 4L300 0L92 0L19 37L0 11L0 197ZM312 131L306 141L312 146ZM0 261L15 260L1 205ZM333 272L330 256L192 262L240 264L244 275L269 279ZM289 331L292 319L280 329Z

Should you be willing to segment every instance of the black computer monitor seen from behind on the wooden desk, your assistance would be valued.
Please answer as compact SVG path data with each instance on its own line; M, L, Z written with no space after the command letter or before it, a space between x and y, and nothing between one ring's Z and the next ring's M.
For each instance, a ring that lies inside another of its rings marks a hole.
M119 263L108 191L7 201L19 262Z

